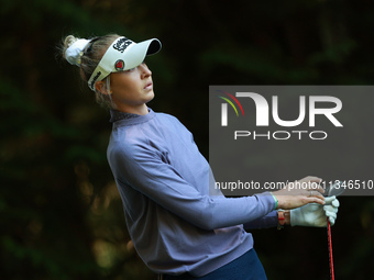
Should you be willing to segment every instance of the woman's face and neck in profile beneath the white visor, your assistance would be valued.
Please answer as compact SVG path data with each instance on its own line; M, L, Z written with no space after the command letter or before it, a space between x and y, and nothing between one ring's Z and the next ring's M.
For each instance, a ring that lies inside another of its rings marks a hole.
M111 98L117 110L146 114L146 103L154 98L152 71L145 63L138 67L110 75Z

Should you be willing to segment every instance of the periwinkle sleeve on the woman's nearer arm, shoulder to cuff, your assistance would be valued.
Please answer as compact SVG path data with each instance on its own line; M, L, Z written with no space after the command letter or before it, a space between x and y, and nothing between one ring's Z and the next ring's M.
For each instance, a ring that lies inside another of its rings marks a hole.
M270 193L243 198L204 195L162 160L160 150L142 143L130 147L119 143L108 154L108 159L119 186L131 186L204 229L245 224L267 215L275 206ZM207 180L207 188L208 183Z

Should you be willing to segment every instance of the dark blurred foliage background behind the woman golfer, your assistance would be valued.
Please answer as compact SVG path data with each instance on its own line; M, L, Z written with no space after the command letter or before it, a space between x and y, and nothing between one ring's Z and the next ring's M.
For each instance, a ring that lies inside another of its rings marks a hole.
M106 160L109 114L56 55L65 35L158 37L163 51L147 60L156 92L150 105L176 115L208 157L209 85L372 85L373 5L1 0L0 278L155 279L134 251ZM337 278L367 279L374 200L341 204ZM323 229L254 237L270 279L328 279Z

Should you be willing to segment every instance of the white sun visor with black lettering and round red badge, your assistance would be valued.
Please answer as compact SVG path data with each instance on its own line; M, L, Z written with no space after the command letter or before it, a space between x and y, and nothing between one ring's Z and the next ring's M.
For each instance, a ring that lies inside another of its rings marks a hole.
M124 71L141 65L145 56L154 55L161 49L161 42L151 38L135 43L127 37L117 38L102 56L88 80L88 87L95 91L95 83L111 72Z

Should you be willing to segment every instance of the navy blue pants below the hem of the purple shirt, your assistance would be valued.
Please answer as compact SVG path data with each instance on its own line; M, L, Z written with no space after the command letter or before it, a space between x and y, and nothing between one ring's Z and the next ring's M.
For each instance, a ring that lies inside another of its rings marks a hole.
M164 275L164 280L266 280L265 270L254 249L249 250L235 260L216 269L204 277L193 277L189 273L180 276Z

